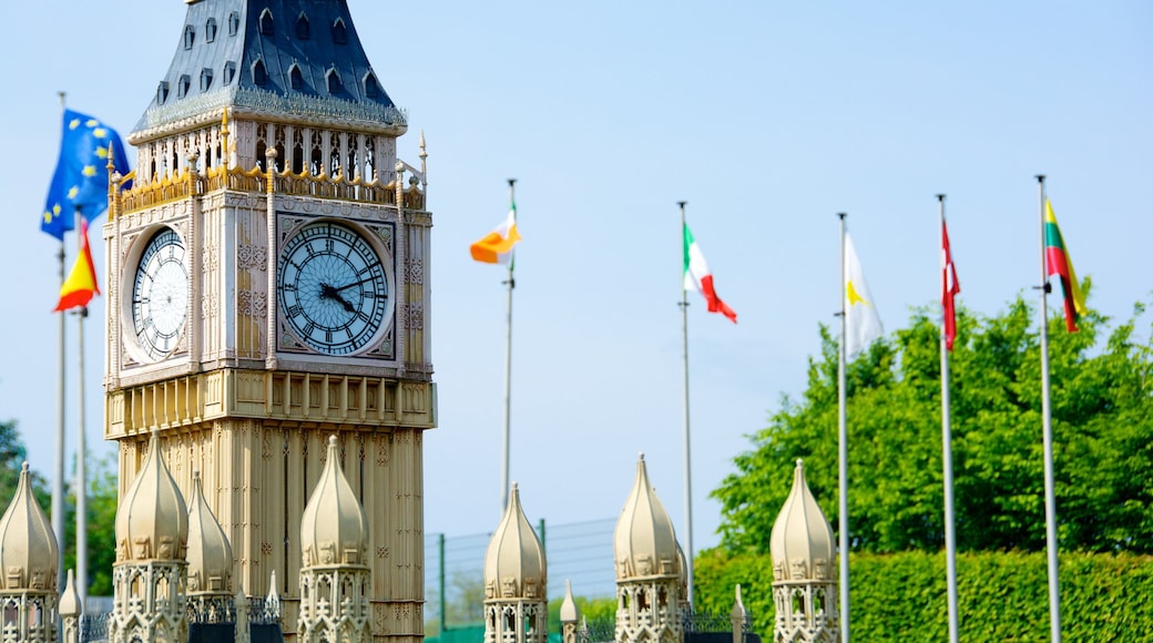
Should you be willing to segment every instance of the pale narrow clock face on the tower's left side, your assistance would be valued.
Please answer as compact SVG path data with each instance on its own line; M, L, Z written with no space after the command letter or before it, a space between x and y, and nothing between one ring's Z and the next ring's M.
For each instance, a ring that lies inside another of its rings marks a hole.
M133 281L133 327L152 360L172 353L188 318L184 242L165 228L144 247Z

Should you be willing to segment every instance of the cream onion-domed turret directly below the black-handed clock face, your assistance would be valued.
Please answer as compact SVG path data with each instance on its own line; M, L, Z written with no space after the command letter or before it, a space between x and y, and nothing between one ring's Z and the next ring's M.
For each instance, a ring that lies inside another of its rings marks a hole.
M300 570L302 643L371 641L366 563L368 520L340 468L337 437L329 438L324 471L308 499L300 524L303 560Z

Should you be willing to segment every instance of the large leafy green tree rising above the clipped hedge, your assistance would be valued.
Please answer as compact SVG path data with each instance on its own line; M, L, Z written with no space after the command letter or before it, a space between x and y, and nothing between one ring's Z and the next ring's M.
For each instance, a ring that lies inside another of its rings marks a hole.
M1088 283L1086 283L1088 290ZM1064 550L1153 552L1153 341L1145 307L1111 331L1098 313L1067 333L1050 317L1058 538ZM960 311L950 358L955 520L962 551L1045 547L1040 338L1018 297L996 317ZM1151 324L1150 327L1153 327ZM1148 331L1146 327L1145 331ZM768 552L793 462L837 524L837 343L821 327L800 400L783 398L737 472L713 492L722 545ZM936 316L874 343L846 369L849 517L854 550L943 546L941 363Z

